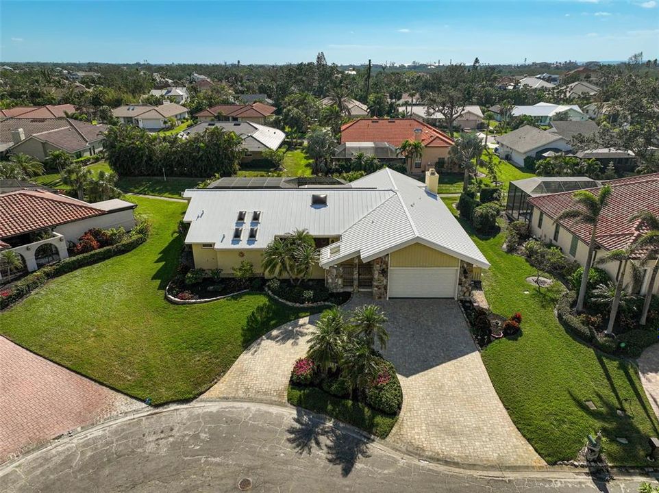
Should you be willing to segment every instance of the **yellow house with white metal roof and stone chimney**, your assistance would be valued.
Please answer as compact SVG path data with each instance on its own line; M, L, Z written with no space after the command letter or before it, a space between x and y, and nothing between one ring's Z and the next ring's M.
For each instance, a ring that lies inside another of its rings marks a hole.
M306 229L320 249L312 278L329 290L469 298L489 264L437 196L434 170L426 181L384 168L342 187L186 190L185 242L197 268L231 276L247 261L261 274L267 245Z

